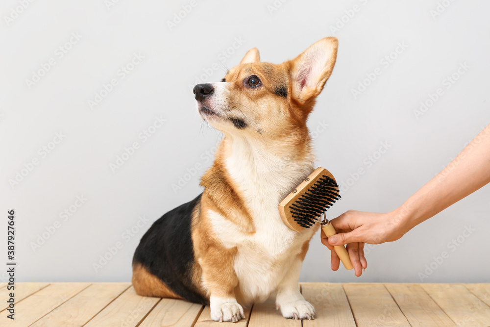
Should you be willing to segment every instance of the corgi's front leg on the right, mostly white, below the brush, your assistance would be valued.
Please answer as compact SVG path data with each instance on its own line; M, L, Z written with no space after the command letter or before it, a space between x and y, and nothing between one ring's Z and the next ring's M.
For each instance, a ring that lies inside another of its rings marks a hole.
M299 273L303 260L299 256L277 286L276 306L281 309L284 318L313 319L315 308L299 292Z

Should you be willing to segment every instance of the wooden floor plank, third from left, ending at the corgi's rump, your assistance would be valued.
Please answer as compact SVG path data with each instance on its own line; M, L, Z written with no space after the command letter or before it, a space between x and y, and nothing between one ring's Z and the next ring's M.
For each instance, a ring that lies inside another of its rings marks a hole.
M83 326L130 285L131 283L92 284L35 322L32 327Z

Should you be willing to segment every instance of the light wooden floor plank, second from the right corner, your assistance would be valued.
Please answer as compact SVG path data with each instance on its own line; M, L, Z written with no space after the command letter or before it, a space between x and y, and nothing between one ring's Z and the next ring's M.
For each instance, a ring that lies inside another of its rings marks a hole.
M490 307L461 284L421 284L458 326L490 326Z

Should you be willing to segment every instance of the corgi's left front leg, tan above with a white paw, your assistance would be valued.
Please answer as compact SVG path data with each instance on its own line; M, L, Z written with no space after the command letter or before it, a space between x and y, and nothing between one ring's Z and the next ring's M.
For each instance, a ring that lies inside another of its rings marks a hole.
M244 309L235 297L238 277L233 269L236 249L210 247L199 260L203 280L209 291L211 319L237 322L245 318Z

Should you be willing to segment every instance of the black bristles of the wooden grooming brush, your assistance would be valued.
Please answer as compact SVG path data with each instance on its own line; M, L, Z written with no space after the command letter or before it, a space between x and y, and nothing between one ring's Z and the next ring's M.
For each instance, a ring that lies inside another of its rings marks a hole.
M323 212L341 199L337 182L322 175L312 186L290 205L294 221L300 226L310 228Z

